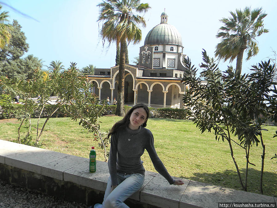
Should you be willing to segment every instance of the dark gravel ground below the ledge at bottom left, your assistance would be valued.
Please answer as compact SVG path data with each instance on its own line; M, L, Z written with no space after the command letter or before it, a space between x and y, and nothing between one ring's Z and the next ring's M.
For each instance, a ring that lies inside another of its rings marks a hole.
M25 188L6 184L0 180L0 207L5 208L75 208L88 207L52 196L28 191Z

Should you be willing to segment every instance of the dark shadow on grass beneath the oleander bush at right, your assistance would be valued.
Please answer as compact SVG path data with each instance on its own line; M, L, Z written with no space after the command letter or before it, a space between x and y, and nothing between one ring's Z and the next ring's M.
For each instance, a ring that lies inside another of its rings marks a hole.
M245 185L246 169L240 169L243 185ZM193 181L213 184L216 186L223 186L236 190L243 190L239 182L238 173L234 170L225 170L223 172L215 173L199 173L195 172L193 177L183 177ZM260 171L249 168L247 179L247 191L260 194ZM263 194L277 197L277 174L264 171L263 172Z

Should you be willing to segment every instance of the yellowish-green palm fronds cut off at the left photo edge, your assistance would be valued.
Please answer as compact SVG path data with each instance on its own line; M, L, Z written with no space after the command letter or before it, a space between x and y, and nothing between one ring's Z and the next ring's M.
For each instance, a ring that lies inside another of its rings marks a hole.
M1 5L0 9L2 9ZM3 11L0 14L0 48L3 48L6 43L9 43L11 37L10 31L13 30L13 27L8 24L8 13L9 12Z

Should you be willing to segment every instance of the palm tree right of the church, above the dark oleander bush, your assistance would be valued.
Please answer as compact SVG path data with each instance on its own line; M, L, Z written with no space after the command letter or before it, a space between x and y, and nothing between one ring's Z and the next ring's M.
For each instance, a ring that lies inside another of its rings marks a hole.
M262 12L262 8L250 10L250 7L245 7L236 12L230 12L231 17L220 20L224 24L219 28L216 35L221 38L221 42L217 44L215 49L215 56L219 59L224 59L230 62L237 58L236 75L241 74L243 52L247 51L247 58L249 60L252 56L257 55L259 47L255 37L268 30L263 28L263 18L267 16Z

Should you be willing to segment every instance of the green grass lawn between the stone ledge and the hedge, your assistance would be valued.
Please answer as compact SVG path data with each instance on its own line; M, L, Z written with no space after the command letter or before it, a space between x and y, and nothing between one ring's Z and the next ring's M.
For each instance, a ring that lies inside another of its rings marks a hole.
M108 130L121 117L102 117L102 131ZM0 120L1 121L1 120ZM45 119L40 120L40 128ZM37 119L32 119L32 133L35 138ZM2 120L0 122L0 138L12 141L17 138L19 122ZM235 165L230 156L227 141L215 141L212 133L200 133L191 121L172 119L149 119L147 128L154 135L156 151L168 172L175 177L182 177L209 184L241 190ZM270 160L277 149L276 138L272 138L276 127L268 126L263 132L266 145L266 156L263 176L264 194L277 197L277 163ZM22 129L22 132L26 129ZM96 147L97 159L104 160L103 151L98 149L98 142L93 141L91 134L70 118L52 118L46 124L41 138L42 148L57 152L88 157L91 146ZM109 150L109 148L107 148ZM233 144L234 155L245 178L245 151ZM248 191L259 193L259 177L261 169L262 147L253 146L250 150ZM147 151L142 156L145 169L156 172Z

